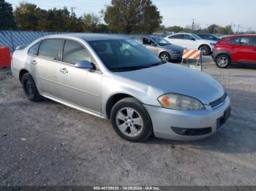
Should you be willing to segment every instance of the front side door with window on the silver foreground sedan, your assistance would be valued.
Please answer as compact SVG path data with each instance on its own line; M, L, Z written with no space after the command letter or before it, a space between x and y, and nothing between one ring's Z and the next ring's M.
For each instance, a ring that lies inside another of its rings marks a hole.
M100 114L102 73L97 68L89 70L75 67L75 63L85 60L96 63L83 44L66 39L60 68L64 70L62 97L71 104Z

